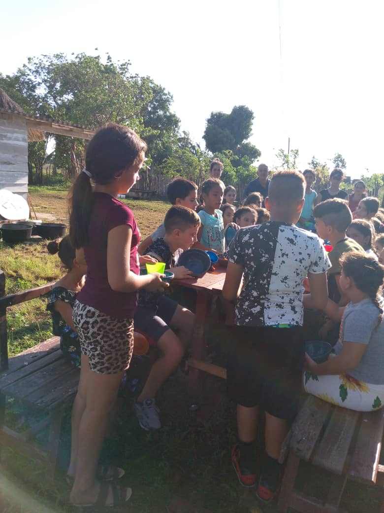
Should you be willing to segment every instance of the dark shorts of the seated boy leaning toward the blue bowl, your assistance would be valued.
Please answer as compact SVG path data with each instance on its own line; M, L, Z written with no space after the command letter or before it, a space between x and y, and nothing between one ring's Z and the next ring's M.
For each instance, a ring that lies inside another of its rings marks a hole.
M157 344L163 334L170 329L170 321L176 312L178 303L162 295L157 311L139 306L135 312L135 329L148 336L150 345Z

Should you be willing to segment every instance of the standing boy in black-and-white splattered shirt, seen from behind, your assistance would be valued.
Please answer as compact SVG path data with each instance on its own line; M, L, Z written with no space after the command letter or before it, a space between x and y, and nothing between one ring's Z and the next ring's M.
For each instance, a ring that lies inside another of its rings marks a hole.
M295 226L304 189L301 173L283 171L272 176L265 199L271 220L238 231L228 250L223 288L224 298L236 302L235 324L242 327L227 367L228 393L237 403L239 436L232 463L240 483L254 486L252 445L260 407L266 418L266 453L258 496L264 501L271 500L278 489L281 445L288 421L296 414L307 274L316 304L324 308L328 300L326 271L331 264L324 246L317 235Z

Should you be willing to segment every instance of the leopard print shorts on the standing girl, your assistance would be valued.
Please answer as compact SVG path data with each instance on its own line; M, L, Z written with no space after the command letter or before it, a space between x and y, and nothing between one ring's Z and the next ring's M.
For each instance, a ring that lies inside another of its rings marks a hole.
M98 374L117 374L130 365L133 351L133 319L114 319L75 301L73 323L80 350Z

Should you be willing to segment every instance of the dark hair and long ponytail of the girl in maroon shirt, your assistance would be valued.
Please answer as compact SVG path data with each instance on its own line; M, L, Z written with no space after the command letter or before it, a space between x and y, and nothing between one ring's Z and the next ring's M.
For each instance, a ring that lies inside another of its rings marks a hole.
M86 171L78 175L70 194L69 234L74 248L89 242L88 227L94 203L91 179L99 185L113 182L144 151L146 144L136 132L114 123L92 137L87 146Z

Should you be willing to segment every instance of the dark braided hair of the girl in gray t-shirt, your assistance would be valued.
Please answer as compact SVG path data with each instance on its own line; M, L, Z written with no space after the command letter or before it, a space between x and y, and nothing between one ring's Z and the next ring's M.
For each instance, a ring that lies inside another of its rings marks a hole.
M356 287L368 295L372 303L379 310L377 325L382 321L383 306L380 301L380 289L384 280L384 266L379 264L374 257L350 251L340 258L344 274L352 278Z

